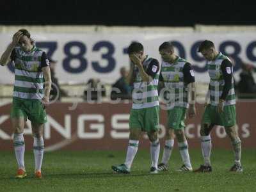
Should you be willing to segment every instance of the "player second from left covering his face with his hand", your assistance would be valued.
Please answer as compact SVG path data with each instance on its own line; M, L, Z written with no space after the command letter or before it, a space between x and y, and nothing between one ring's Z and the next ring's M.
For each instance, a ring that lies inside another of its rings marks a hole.
M117 173L130 173L132 161L136 155L141 132L147 132L150 140L151 168L150 173L158 173L157 163L160 144L158 78L159 62L144 54L143 45L133 42L128 48L132 62L127 81L133 84L132 109L129 118L129 144L124 164L112 166Z

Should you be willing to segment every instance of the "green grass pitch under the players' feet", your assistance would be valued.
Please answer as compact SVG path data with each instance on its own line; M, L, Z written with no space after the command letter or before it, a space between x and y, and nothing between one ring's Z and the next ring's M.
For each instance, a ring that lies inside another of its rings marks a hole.
M189 150L193 168L202 163L200 149ZM149 150L138 150L129 175L113 173L111 165L124 163L123 151L45 152L42 179L33 177L33 152L26 152L28 177L15 179L14 152L0 152L0 191L256 191L256 150L242 152L243 173L228 172L232 150L212 150L212 173L180 173L177 148L170 170L156 175L150 169ZM162 154L162 152L161 152ZM161 159L161 158L159 158Z

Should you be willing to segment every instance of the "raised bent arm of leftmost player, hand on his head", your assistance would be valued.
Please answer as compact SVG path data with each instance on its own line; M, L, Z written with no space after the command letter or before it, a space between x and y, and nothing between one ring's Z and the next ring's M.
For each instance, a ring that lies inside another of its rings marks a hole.
M13 56L14 56L13 54L15 52L14 48L19 43L21 36L22 36L21 31L18 31L17 33L15 33L13 35L12 43L10 45L8 45L8 47L6 48L6 51L4 51L4 53L1 55L0 65L2 65L2 66L7 65L11 59L13 60ZM12 56L12 58L11 58L11 56Z

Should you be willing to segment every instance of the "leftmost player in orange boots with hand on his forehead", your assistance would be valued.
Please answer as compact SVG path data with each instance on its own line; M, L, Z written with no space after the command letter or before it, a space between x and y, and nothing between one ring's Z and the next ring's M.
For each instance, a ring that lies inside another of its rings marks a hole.
M25 142L23 137L27 118L31 121L34 138L35 177L41 178L44 154L42 131L47 121L45 107L49 104L51 89L49 61L45 52L36 48L34 40L31 39L26 29L20 29L13 35L12 43L1 56L0 64L7 65L9 61L15 65L11 118L14 150L19 166L16 178L22 179L27 175L24 164Z

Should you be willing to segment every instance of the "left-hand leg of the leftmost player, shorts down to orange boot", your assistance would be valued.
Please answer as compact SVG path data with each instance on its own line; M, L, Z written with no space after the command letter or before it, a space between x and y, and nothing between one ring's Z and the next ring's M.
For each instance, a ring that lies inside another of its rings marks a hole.
M25 141L23 136L27 115L22 109L22 101L19 99L13 98L11 119L14 132L13 145L15 150L15 157L18 163L18 172L16 178L22 179L27 175L24 163Z

